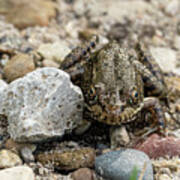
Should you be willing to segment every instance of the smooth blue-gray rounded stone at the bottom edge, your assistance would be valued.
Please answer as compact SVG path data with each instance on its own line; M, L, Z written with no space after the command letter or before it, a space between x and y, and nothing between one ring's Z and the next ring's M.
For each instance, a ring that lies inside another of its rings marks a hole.
M129 180L134 168L140 176L144 164L146 164L146 170L143 180L153 180L153 169L149 157L134 149L112 151L97 157L95 170L108 180Z

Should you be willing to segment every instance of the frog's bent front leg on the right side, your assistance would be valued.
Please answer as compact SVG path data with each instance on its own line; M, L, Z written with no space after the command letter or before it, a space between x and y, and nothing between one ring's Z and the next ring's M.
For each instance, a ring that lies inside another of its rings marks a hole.
M144 98L143 109L149 110L157 121L159 130L165 129L165 117L160 102L155 97Z

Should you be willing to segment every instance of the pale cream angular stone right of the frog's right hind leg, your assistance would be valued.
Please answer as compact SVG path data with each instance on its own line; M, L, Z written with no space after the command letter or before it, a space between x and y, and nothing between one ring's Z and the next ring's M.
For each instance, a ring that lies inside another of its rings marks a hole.
M176 51L170 48L150 47L150 52L164 72L171 72L176 68Z

